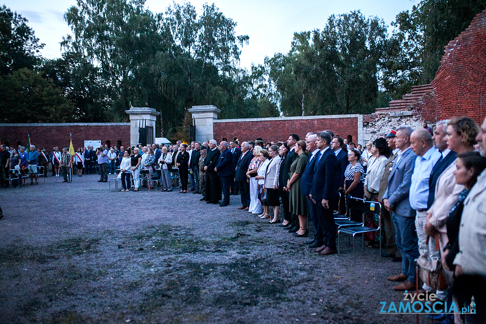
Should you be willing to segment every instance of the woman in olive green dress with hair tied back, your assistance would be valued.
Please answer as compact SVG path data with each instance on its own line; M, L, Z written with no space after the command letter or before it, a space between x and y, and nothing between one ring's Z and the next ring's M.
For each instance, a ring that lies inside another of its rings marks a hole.
M307 199L300 192L300 178L302 173L304 173L305 166L307 165L308 161L306 146L307 144L303 140L299 140L295 144L295 153L297 153L298 156L290 166L290 179L287 182L286 188L286 190L290 192L290 211L293 214L298 215L299 218L300 229L294 233L294 236L299 238L307 237L309 234L309 230L307 228L309 204Z

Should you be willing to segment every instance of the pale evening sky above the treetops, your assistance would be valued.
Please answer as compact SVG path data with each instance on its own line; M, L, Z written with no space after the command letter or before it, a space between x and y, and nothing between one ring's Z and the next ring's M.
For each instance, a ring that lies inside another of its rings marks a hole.
M176 2L182 2L176 0ZM249 36L248 45L243 46L241 67L252 63L263 63L265 56L287 53L294 32L322 29L332 15L361 10L364 16L383 18L387 25L404 10L411 10L419 0L192 0L196 9L205 2L213 3L220 11L237 22L236 34ZM0 2L1 3L1 2ZM29 20L36 37L46 46L42 56L61 56L59 43L69 34L64 13L76 3L75 0L4 0L12 11L17 11ZM154 13L165 12L172 0L147 0L146 7Z

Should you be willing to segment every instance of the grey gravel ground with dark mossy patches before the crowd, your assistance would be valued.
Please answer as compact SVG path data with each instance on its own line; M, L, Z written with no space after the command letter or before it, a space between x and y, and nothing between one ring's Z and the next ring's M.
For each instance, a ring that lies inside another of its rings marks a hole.
M379 314L403 294L386 281L400 264L378 250L354 260L342 239L340 257L318 256L237 210L239 196L219 207L195 194L108 191L98 179L0 189L0 323L416 321Z

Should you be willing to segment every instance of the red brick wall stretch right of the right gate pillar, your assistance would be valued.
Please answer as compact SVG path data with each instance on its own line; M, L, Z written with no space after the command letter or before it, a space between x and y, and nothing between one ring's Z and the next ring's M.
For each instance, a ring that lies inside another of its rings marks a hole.
M287 140L290 134L297 134L304 139L308 132L316 133L323 130L332 130L336 135L346 138L353 136L358 140L358 117L350 118L318 118L318 119L278 119L261 121L227 121L213 124L214 139L217 141L226 137L232 140L238 137L240 141L255 140L257 137L263 141Z

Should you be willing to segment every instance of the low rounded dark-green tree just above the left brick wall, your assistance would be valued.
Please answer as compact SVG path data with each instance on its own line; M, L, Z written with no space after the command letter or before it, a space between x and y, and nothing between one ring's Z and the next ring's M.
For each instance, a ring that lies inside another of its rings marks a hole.
M21 68L0 77L0 120L8 123L72 122L74 107L42 72Z

